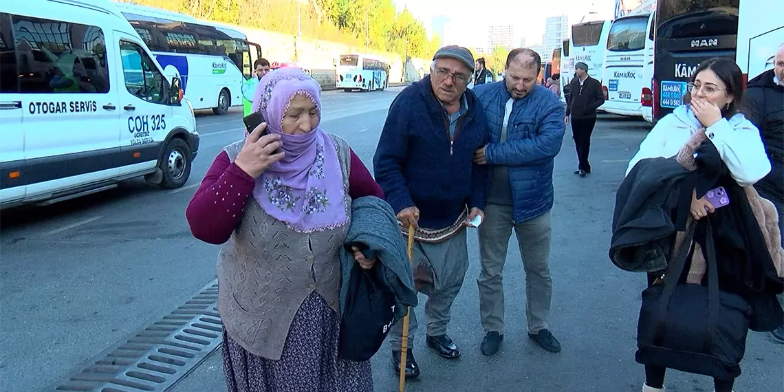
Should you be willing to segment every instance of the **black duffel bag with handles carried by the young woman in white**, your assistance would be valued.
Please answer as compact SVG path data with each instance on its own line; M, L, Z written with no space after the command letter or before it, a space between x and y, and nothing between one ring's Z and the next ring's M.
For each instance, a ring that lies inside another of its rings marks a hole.
M707 218L699 223L706 225L708 286L679 283L697 225L692 222L667 266L664 284L642 292L635 359L643 365L735 379L746 353L751 308L741 296L719 289L713 229Z

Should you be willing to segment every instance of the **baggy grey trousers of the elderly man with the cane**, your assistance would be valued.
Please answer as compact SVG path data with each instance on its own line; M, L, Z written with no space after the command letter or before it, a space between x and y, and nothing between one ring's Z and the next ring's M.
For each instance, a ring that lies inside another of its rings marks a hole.
M427 296L425 303L427 335L444 335L452 318L452 303L463 287L463 279L468 270L466 229L437 244L416 242L413 254L414 284L418 292ZM408 348L413 347L413 337L418 327L414 308L411 308L408 316ZM402 336L403 319L392 325L390 329L389 339L392 350L401 350Z

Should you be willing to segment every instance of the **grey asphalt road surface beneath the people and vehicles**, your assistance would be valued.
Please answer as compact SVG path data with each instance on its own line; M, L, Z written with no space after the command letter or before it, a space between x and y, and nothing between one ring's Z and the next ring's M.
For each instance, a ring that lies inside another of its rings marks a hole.
M398 91L325 93L322 126L343 136L369 166ZM218 249L191 237L184 209L212 159L242 136L241 112L205 113L197 122L201 151L185 187L159 191L130 181L87 198L3 212L0 390L38 390L53 383L215 278ZM524 274L514 238L506 266L503 347L492 358L480 353L479 260L471 232L471 265L449 328L463 356L456 361L437 357L420 331L414 350L423 374L406 390L641 390L644 376L633 354L645 278L614 267L607 250L615 190L648 129L641 121L602 116L593 133L593 174L584 179L572 174L574 144L570 136L564 138L556 159L550 259L550 328L561 340L561 353L542 350L526 335ZM423 310L416 311L423 319ZM397 390L386 345L373 366L376 390ZM750 332L742 368L735 390L782 390L784 346ZM713 390L706 377L678 372L670 372L667 386L676 392ZM173 390L225 390L220 350Z

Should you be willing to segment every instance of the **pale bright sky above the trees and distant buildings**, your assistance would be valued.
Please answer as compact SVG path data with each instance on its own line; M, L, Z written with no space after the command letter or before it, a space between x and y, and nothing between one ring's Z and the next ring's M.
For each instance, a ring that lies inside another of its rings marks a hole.
M514 41L525 38L526 45L542 43L545 18L566 14L569 24L578 23L591 9L612 19L615 0L393 0L398 10L408 7L416 18L422 20L431 33L433 16L448 16L453 24L465 24L459 29L461 45L482 45L487 41L486 28L499 24L514 24Z

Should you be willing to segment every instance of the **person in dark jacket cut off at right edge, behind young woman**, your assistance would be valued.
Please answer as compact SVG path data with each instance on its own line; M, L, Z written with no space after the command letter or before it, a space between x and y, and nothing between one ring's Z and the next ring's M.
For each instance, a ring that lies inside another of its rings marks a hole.
M774 69L764 71L747 84L743 97L746 117L760 130L771 172L754 184L760 196L772 201L779 211L779 230L784 232L784 43L779 45ZM782 240L784 245L784 240ZM779 296L784 306L784 296ZM771 332L784 344L784 325Z

